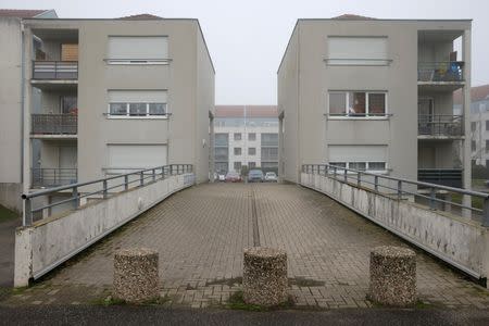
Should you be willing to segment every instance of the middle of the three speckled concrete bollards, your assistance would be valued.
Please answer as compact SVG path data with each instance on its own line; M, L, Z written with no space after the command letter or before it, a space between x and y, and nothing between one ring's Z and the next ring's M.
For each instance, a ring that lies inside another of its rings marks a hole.
M244 250L242 291L248 304L273 306L287 301L287 253L255 247Z

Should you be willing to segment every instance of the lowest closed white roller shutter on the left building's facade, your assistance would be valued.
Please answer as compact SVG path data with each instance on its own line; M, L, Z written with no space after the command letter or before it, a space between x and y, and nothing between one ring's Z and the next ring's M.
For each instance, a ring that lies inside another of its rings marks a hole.
M109 168L150 168L167 164L166 145L109 145Z

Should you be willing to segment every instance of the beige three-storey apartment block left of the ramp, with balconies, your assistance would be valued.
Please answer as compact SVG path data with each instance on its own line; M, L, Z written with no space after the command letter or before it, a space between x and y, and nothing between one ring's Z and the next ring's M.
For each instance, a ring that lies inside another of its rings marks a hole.
M21 24L24 192L174 163L208 180L214 67L197 20Z

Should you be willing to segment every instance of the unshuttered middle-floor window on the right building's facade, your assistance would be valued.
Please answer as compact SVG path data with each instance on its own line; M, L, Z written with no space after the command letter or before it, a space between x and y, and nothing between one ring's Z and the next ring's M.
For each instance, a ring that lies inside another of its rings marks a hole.
M329 92L329 115L331 116L385 116L386 112L386 92Z

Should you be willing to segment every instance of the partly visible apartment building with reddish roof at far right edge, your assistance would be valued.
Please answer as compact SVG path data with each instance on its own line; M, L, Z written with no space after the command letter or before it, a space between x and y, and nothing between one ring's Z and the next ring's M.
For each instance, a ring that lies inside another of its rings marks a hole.
M471 152L477 165L489 166L489 85L471 89ZM462 110L462 93L455 92L454 111Z

